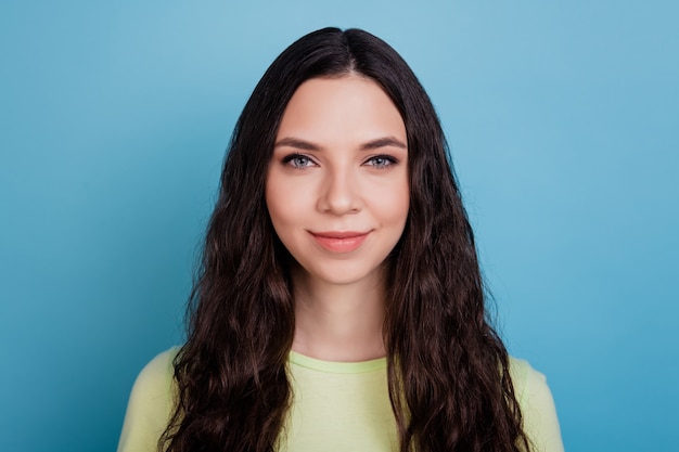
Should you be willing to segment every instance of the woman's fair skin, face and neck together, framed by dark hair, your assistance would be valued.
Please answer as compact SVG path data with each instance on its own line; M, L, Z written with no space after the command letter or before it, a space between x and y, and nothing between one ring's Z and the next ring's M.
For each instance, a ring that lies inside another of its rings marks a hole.
M295 259L293 350L328 361L385 356L385 259L409 208L406 127L372 80L304 82L287 104L266 184Z

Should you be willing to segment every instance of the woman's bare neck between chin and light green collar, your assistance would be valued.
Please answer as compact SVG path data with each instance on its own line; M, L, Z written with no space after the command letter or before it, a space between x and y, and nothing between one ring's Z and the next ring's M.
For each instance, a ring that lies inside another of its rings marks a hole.
M293 275L293 350L325 361L357 362L386 354L382 280L334 285Z

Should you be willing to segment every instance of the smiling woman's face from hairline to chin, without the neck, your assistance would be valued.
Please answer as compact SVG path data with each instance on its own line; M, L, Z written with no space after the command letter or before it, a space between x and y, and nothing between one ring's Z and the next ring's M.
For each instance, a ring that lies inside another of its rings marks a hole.
M409 197L406 126L386 93L359 76L304 82L283 114L266 202L305 276L379 281Z

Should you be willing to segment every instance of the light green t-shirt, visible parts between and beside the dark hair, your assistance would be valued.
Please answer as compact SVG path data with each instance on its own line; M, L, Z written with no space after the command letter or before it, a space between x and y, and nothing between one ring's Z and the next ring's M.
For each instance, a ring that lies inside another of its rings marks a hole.
M132 388L118 452L156 452L172 412L172 366L178 349L154 358ZM511 358L511 374L524 415L524 430L538 452L562 452L552 395L545 376ZM330 362L292 351L293 403L281 451L398 451L389 403L386 359Z

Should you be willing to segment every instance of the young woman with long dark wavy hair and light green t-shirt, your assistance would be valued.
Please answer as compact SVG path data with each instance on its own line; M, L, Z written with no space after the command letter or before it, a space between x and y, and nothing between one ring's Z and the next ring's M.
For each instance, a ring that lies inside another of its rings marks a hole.
M432 103L358 29L287 48L236 124L188 340L118 451L561 451L541 374L489 325Z

